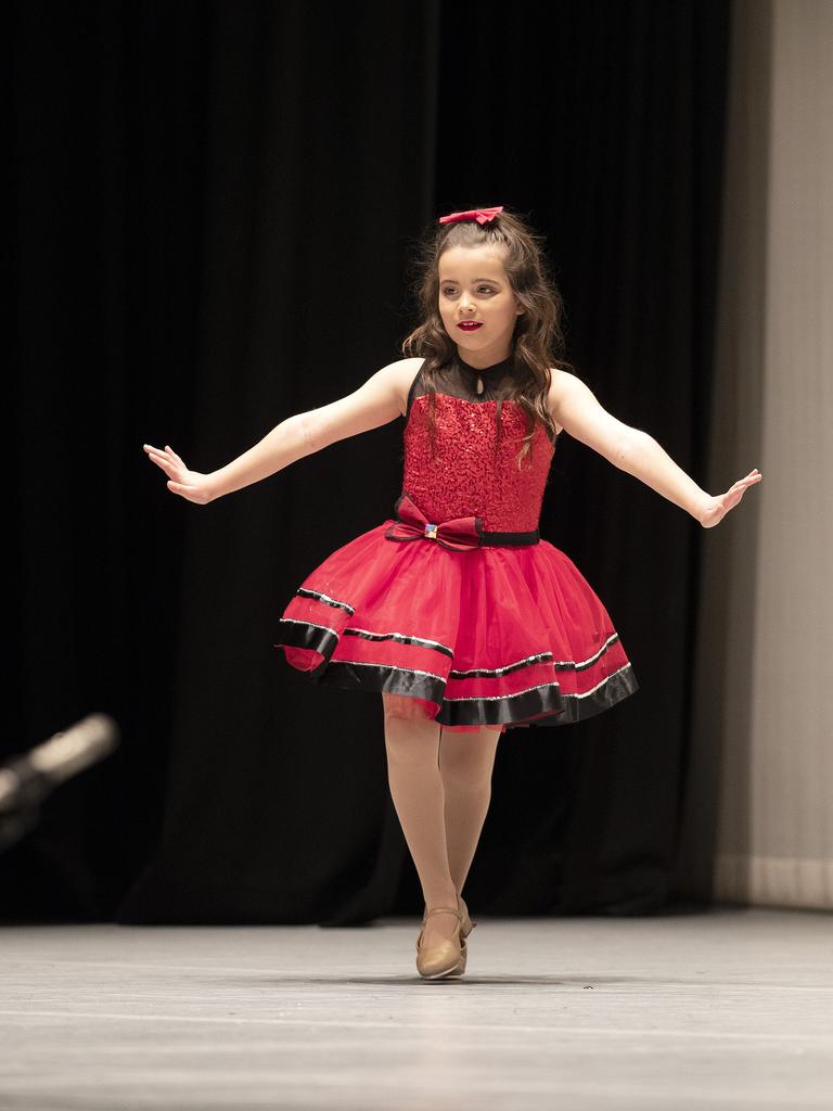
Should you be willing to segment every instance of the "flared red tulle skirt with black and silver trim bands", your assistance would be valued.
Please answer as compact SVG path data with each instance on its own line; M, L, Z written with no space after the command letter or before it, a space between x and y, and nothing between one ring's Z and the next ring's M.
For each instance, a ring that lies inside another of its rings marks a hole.
M397 543L392 524L298 589L274 644L293 668L401 695L405 715L459 732L576 722L639 689L608 611L558 548Z

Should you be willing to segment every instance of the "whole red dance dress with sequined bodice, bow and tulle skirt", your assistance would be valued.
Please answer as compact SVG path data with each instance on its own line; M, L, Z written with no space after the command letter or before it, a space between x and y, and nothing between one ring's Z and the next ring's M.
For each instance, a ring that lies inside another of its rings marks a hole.
M475 383L483 382L478 393ZM510 357L439 371L435 439L411 384L395 518L334 551L280 620L288 662L468 732L582 721L639 689L604 605L538 532L555 444L511 399ZM410 711L410 713L408 713Z

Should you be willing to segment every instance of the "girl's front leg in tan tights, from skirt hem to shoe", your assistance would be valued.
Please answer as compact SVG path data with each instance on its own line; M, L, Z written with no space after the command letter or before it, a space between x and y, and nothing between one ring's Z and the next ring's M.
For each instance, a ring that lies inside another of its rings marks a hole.
M449 871L445 843L445 797L440 774L440 727L425 718L413 699L382 694L388 782L402 832L422 884L428 910L455 907L456 888ZM423 942L450 938L453 914L432 914Z

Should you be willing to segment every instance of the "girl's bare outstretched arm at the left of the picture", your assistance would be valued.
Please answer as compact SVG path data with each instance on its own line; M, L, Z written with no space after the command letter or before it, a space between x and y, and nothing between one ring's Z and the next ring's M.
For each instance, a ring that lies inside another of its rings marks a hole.
M358 436L404 416L408 390L422 359L389 363L353 393L277 424L262 440L210 474L190 471L177 452L143 444L143 450L168 476L168 489L204 506L289 467L297 459L321 451L337 440Z

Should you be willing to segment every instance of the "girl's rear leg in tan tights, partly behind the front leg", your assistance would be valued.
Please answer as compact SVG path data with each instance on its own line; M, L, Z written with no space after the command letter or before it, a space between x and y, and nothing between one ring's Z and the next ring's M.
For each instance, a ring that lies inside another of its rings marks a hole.
M449 870L458 892L469 874L492 798L492 769L501 729L440 735L440 774L445 795Z

